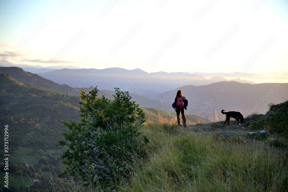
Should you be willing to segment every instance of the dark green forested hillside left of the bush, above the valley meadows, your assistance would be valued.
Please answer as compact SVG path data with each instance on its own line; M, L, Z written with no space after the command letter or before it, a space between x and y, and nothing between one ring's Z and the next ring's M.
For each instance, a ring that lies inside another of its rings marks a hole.
M10 147L54 147L64 131L59 120L80 120L79 96L25 85L3 73L0 82L0 122L9 125Z

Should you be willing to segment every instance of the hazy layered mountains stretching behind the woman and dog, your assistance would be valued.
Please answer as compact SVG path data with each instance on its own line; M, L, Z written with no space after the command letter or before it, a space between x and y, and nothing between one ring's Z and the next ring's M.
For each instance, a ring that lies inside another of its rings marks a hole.
M240 80L241 83L227 81L222 77L206 79L200 75L181 72L146 73L141 69L107 68L60 69L34 74L18 67L2 67L0 73L9 74L24 84L31 83L34 78L37 80L34 86L74 96L79 96L80 88L88 92L97 86L99 96L105 95L112 99L114 88L120 88L129 91L140 107L169 113L174 113L172 103L177 90L182 90L189 101L186 113L212 120L222 118L222 109L240 111L244 116L266 113L269 103L276 104L288 99L288 83L255 84Z

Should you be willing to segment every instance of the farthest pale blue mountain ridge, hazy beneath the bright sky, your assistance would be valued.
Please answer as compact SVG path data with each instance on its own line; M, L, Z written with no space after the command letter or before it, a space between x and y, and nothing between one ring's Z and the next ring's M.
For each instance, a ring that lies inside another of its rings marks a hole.
M169 89L177 89L184 85L208 85L219 81L219 78L206 79L200 75L184 72L155 72L147 73L141 69L127 70L122 68L107 69L60 69L46 73L39 73L42 77L50 79L59 84L67 84L71 87L83 85L85 87L98 86L101 90L113 90L117 87L125 91L137 90L137 92L154 98ZM221 81L231 81L221 78ZM236 79L236 81L247 83L249 81ZM253 82L249 82L255 84ZM146 90L149 90L146 92ZM153 96L149 96L149 92ZM136 92L135 92L136 93Z

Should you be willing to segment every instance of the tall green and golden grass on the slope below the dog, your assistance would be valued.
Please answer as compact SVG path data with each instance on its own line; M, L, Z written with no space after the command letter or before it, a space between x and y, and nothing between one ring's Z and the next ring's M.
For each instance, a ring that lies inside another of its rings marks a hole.
M145 158L122 191L286 191L288 155L266 142L246 142L175 124L146 124Z

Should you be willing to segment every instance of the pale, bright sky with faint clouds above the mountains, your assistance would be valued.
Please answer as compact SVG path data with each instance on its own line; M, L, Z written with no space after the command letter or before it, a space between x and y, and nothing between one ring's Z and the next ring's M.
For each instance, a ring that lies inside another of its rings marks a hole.
M0 8L0 60L14 64L181 71L256 83L288 74L285 0L1 0Z

